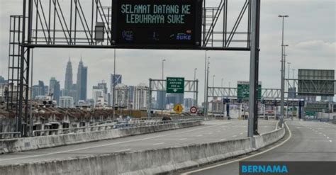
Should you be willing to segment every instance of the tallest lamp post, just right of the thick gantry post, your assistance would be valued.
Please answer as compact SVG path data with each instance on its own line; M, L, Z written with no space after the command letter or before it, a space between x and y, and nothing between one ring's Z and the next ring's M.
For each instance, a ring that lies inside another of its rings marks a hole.
M288 15L279 15L279 18L282 18L282 41L281 41L281 111L280 111L280 125L284 123L284 20L288 18Z

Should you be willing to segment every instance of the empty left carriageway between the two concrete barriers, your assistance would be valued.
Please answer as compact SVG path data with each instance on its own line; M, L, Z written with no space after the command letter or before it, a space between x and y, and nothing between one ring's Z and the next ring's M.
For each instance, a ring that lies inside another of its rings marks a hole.
M114 140L101 140L99 142L2 154L0 155L0 165L42 162L69 157L129 152L247 137L247 120L210 120L204 122L204 124L191 128L155 132ZM275 120L259 121L259 132L269 132L275 128Z

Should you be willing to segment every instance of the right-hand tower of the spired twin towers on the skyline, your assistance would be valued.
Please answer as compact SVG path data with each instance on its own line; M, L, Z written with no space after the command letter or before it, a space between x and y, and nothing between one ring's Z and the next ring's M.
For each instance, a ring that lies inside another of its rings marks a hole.
M82 58L78 65L77 71L77 99L76 103L80 100L86 101L87 89L87 67L84 67Z

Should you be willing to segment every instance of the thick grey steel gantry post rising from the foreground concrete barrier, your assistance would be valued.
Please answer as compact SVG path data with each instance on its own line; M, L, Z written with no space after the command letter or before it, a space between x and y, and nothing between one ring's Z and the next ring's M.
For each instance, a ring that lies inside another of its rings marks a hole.
M259 26L260 0L252 0L251 20L251 58L250 58L250 106L248 120L248 137L258 135L258 73L259 73Z

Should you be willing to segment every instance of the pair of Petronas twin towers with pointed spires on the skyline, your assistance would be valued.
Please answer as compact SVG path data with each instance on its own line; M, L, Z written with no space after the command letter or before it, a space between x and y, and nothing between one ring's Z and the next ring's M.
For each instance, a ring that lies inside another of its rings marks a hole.
M86 101L86 89L87 89L87 67L81 61L78 65L77 71L77 82L73 84L72 80L72 63L67 62L67 69L65 71L65 96L72 96L74 102L77 104L78 101Z

